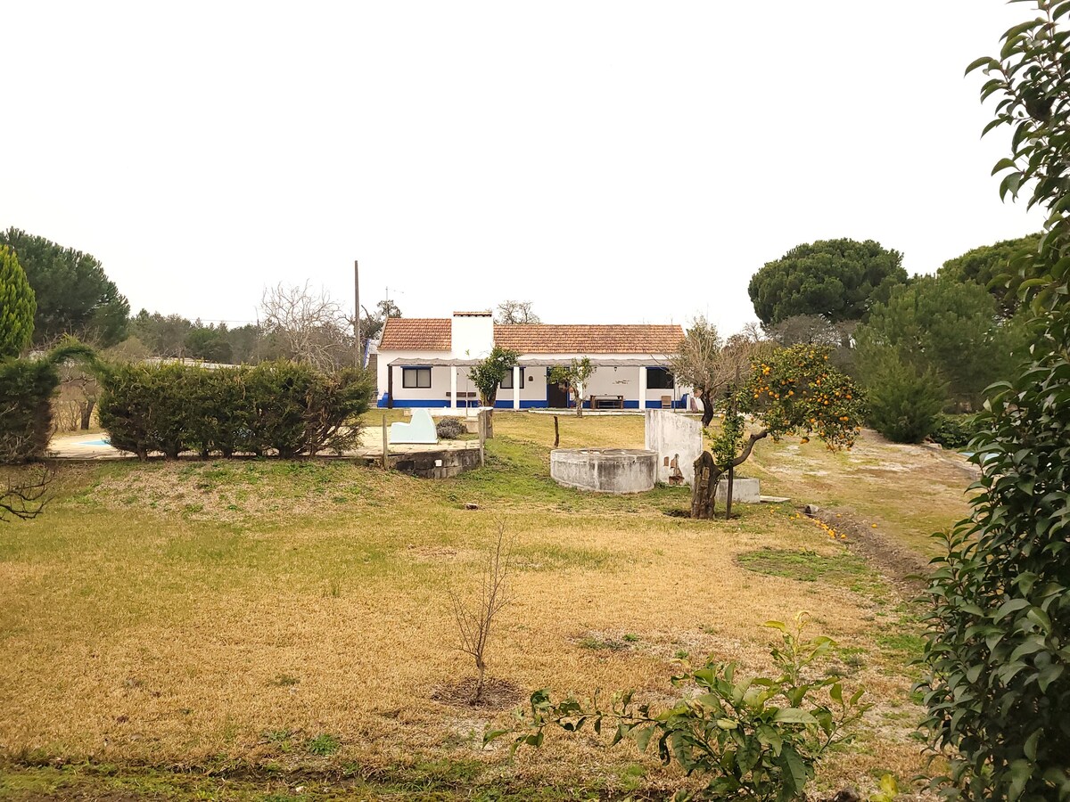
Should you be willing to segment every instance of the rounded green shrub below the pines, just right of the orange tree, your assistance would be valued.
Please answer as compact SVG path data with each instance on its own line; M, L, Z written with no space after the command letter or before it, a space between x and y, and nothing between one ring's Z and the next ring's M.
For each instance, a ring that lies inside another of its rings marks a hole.
M936 428L947 400L946 386L886 354L868 372L869 423L893 443L920 443Z

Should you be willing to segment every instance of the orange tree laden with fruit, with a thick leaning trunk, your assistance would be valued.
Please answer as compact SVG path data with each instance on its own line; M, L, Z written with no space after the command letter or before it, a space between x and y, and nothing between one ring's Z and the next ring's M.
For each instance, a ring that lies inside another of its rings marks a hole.
M765 437L820 437L831 450L851 448L862 417L862 394L851 379L828 364L828 345L799 344L776 351L751 370L721 402L724 415L710 451L694 462L691 518L714 516L717 484L750 458ZM759 423L747 433L745 415Z

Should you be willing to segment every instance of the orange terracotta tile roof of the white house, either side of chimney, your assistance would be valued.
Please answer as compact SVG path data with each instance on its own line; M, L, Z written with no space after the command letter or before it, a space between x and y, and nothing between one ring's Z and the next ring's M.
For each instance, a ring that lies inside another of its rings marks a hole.
M380 351L449 351L449 318L391 318ZM521 354L671 354L684 339L678 325L494 326L494 344Z

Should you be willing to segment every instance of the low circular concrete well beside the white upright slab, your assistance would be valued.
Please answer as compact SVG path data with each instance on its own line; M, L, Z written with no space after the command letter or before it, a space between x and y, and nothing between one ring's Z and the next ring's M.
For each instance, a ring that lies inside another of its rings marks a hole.
M658 456L642 448L555 448L550 476L557 484L597 493L642 493L654 489Z

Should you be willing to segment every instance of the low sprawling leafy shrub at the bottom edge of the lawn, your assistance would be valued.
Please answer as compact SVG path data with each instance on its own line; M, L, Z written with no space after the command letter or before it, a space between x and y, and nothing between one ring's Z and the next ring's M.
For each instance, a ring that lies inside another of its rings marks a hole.
M673 685L694 685L698 693L660 712L633 705L630 691L615 696L609 710L597 697L591 704L575 697L554 704L547 691L536 691L513 749L540 746L549 726L578 732L590 723L600 734L609 723L614 727L610 745L629 738L645 751L656 741L663 764L676 761L706 781L705 798L805 800L814 766L829 749L852 740L851 727L869 709L859 701L861 689L847 694L840 678L829 674L810 678L808 667L835 644L804 637L806 621L799 614L793 628L766 624L781 632L781 644L771 650L779 676L743 678L735 663L709 661L672 678ZM491 731L485 740L504 735L508 731ZM689 798L686 791L676 795Z

